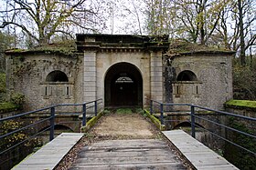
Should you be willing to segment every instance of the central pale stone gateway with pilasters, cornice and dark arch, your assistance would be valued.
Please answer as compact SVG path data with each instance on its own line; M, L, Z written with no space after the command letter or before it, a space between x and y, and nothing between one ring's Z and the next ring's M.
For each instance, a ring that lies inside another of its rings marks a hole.
M163 54L168 36L77 35L83 55L84 101L105 106L143 106L163 101Z

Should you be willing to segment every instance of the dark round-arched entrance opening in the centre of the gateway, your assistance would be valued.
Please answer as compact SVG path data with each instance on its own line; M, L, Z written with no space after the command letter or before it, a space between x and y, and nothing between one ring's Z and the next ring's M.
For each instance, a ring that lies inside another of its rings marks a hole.
M143 105L143 79L135 65L112 65L105 76L104 89L105 106Z

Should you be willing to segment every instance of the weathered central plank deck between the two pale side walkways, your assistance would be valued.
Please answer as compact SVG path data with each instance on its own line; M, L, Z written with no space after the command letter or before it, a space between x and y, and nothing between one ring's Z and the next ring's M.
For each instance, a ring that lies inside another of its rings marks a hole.
M70 170L187 169L165 141L107 140L84 147Z

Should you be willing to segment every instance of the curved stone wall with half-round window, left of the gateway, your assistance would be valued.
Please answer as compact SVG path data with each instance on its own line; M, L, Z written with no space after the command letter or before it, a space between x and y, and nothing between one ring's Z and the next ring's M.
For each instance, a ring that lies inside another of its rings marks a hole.
M9 53L6 55L6 63L7 93L9 97L14 93L25 95L26 111L48 105L83 101L83 69L79 55ZM59 82L58 79L47 81L48 75L54 71L67 75L68 82Z

